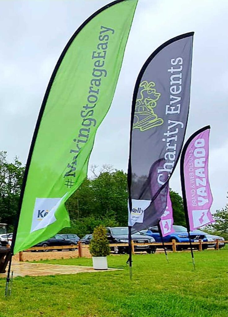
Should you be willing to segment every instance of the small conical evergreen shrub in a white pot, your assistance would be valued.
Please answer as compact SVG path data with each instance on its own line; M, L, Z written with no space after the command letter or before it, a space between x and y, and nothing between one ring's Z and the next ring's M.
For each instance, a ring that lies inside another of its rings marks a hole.
M107 230L100 225L94 229L93 238L90 241L89 251L93 257L95 270L107 270L107 256L110 254Z

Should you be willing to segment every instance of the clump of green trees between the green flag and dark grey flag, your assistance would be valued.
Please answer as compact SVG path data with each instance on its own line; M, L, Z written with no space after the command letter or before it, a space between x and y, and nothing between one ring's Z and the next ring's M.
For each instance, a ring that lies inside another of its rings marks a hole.
M86 179L67 202L70 218L94 217L98 220L115 219L127 225L127 174L114 169L97 173ZM78 210L79 209L79 210Z

